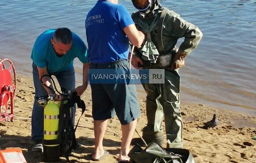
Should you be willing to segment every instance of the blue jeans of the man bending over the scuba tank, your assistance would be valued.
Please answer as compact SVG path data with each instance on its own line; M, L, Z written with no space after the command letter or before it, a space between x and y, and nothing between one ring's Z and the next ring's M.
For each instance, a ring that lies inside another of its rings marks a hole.
M41 84L39 79L39 74L37 70L37 66L33 63L33 82L35 87L35 97L47 96L48 93ZM59 86L65 87L67 90L73 90L75 88L75 76L74 76L74 67L70 70L63 71L63 72L54 72L49 73L50 76L56 76ZM60 90L59 90L60 91ZM32 141L37 139L44 138L44 108L42 106L37 105L38 99L35 98L32 110L32 130L31 130L31 138ZM76 106L71 108L71 120L73 120L74 125L74 116L76 112Z

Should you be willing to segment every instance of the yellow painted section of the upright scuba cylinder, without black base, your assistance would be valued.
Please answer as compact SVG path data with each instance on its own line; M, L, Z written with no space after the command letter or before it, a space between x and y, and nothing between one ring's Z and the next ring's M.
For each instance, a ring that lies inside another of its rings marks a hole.
M59 106L50 100L44 109L44 139L55 140L59 137ZM45 145L57 146L57 145Z

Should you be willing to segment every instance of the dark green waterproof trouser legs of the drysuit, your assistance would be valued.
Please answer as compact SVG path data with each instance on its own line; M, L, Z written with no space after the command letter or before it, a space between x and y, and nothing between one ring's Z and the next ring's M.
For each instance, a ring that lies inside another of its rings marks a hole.
M152 65L148 69L163 69ZM162 130L164 116L167 148L182 148L182 117L180 110L180 76L178 69L165 69L164 84L142 84L146 93L146 112L148 124L146 131Z

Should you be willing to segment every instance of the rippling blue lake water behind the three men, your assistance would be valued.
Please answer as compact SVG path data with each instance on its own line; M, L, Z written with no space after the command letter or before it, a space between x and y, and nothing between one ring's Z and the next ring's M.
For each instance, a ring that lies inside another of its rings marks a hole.
M161 0L204 34L180 69L182 101L256 115L256 1ZM0 58L31 75L31 49L47 29L67 27L86 43L85 17L96 0L1 0ZM119 0L135 11L130 0ZM182 40L179 41L179 43ZM87 44L87 43L86 43ZM82 64L75 61L78 80ZM138 86L138 88L141 88Z

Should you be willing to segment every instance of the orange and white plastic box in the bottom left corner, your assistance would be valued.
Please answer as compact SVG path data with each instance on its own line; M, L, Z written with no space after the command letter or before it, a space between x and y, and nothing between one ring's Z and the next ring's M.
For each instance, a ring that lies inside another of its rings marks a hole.
M21 149L10 148L0 150L0 163L26 163L26 159Z

